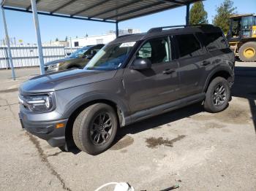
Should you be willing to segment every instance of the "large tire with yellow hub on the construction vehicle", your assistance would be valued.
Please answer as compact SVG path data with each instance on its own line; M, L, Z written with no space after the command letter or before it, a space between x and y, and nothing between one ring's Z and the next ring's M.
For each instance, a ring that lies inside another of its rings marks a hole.
M249 52L246 55L245 52ZM239 58L244 62L255 62L256 61L256 42L246 42L239 49Z

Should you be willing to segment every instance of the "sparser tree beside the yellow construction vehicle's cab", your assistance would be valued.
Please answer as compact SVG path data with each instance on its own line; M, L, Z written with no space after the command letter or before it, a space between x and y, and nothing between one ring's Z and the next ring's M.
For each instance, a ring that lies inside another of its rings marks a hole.
M236 7L234 7L232 0L224 0L222 4L217 7L217 15L215 15L213 23L214 26L219 26L222 31L227 34L230 28L230 16L236 14Z

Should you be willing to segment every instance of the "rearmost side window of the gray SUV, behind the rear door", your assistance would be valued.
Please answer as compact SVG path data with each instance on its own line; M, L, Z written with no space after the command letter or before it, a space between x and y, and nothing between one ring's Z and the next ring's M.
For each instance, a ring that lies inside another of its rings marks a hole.
M227 48L227 43L222 33L209 33L203 35L203 40L208 50L222 50Z

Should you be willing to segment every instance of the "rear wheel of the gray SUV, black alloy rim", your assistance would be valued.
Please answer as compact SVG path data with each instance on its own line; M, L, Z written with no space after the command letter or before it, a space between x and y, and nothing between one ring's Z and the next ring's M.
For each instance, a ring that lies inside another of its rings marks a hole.
M224 92L222 92L223 88ZM230 87L228 85L227 79L223 77L214 78L208 89L206 91L206 99L204 101L203 107L207 112L217 113L222 112L228 106L228 101L230 101Z

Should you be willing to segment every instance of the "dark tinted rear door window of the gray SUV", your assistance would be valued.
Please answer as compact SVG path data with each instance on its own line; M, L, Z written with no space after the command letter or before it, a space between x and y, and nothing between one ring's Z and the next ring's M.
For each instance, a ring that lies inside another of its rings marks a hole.
M197 41L194 34L181 34L176 36L180 58L189 58L202 55L200 42Z

